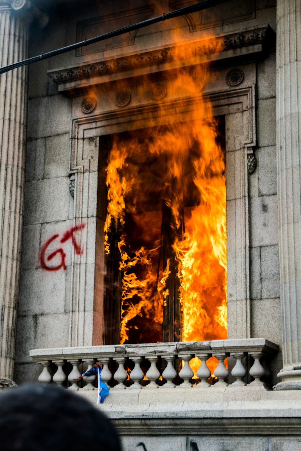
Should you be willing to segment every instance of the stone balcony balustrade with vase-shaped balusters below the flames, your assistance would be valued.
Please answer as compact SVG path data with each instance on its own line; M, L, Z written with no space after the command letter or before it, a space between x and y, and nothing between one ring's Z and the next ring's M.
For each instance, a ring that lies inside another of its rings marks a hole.
M56 382L69 389L94 389L96 376L83 377L84 387L74 381L83 371L102 363L102 382L117 389L159 387L261 386L267 388L269 358L278 345L264 338L214 340L144 345L106 345L31 350L32 358L43 367L39 382ZM214 378L206 362L218 359ZM194 373L190 360L199 357L201 365ZM228 359L225 361L226 358ZM183 364L185 362L185 364ZM228 368L226 368L226 365ZM79 367L79 365L82 365ZM127 370L126 370L127 368ZM132 368L130 371L129 368ZM81 385L83 383L81 382Z

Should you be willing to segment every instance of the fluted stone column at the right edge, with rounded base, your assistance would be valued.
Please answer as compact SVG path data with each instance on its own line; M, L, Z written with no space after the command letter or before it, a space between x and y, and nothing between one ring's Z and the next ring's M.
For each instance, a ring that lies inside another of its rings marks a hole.
M301 2L277 0L277 184L283 368L301 389Z

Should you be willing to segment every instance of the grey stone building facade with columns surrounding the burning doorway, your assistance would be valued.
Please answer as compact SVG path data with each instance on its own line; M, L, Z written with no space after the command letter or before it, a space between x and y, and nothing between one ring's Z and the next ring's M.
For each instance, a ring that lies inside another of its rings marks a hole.
M0 0L1 65L188 4L69 3ZM150 118L158 123L158 105L167 123L180 103L177 119L188 120L200 94L183 87L175 95L175 71L202 64L204 49L198 49L214 35L222 48L205 51L213 77L202 95L214 115L225 116L228 339L264 337L278 345L269 379L276 387L217 387L214 397L210 389L195 400L185 388L161 387L156 401L144 389L126 390L122 402L112 389L102 408L128 451L139 442L147 451L234 451L250 440L252 449L299 449L300 438L293 437L300 436L301 416L299 3L230 0L0 75L3 386L36 381L38 362L51 361L56 371L66 360L77 367L99 357L93 346L102 345L103 331L102 139L135 129L138 116L143 127ZM184 54L187 41L194 43L193 59ZM174 58L179 46L180 62ZM45 246L61 249L52 262L56 270L49 270Z

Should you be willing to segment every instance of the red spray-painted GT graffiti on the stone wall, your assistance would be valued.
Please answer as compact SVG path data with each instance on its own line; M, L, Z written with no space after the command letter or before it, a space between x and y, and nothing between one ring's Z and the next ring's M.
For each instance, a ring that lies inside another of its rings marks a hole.
M80 226L71 227L71 229L67 230L64 233L64 235L60 239L60 243L63 244L66 241L68 241L68 239L71 238L75 253L77 255L83 254L83 248L81 248L80 244L78 244L78 242L76 241L75 232L77 230L82 230L84 228L85 228L85 224L81 224ZM63 268L66 271L66 269L67 269L66 261L65 261L66 254L64 252L64 249L62 249L62 248L56 249L55 251L51 252L48 255L48 257L46 258L46 250L47 250L48 246L52 243L52 241L57 239L59 236L60 235L58 235L58 234L51 236L51 238L49 238L46 241L46 243L43 245L43 247L41 249L40 264L41 264L42 268L46 269L47 271L59 271L60 268ZM57 266L48 266L46 262L50 262L52 260L52 258L54 258L58 254L60 254L60 264L58 264Z

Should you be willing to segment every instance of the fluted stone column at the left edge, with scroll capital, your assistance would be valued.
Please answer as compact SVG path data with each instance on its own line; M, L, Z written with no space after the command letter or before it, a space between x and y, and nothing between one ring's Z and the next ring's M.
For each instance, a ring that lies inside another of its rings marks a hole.
M25 11L22 7L25 6ZM0 0L0 66L27 57L28 2ZM0 387L10 385L19 295L27 67L0 75Z

